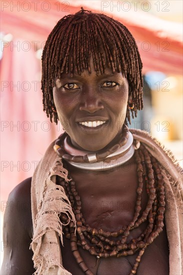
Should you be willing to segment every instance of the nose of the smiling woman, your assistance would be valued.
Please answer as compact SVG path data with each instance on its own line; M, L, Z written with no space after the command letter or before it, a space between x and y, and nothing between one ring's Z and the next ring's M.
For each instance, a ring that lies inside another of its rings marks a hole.
M85 88L81 93L79 110L93 113L101 109L103 109L103 104L97 89Z

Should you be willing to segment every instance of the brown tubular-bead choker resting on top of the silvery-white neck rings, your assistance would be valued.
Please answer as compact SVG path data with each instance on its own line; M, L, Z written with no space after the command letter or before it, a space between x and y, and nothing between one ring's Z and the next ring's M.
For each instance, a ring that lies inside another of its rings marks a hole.
M83 156L82 155L71 155L64 151L62 142L63 142L64 138L66 137L66 135L67 134L64 132L58 139L55 140L53 148L54 148L55 152L58 154L58 156L62 157L66 161L87 162L88 163L89 159L88 159L87 154L85 154ZM128 127L123 124L122 131L120 133L119 143L113 145L112 147L110 147L107 150L103 149L103 150L100 150L99 152L96 152L95 155L96 155L97 161L101 161L102 159L107 157L109 154L115 152L121 146L126 144L128 135L129 135Z

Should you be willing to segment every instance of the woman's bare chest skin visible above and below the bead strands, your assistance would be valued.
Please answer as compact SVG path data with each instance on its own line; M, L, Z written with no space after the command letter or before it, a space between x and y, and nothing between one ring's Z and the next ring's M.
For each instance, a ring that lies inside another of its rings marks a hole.
M80 196L81 211L86 222L93 228L106 231L119 230L132 220L136 202L136 188L138 178L134 163L123 166L121 169L102 173L88 173L72 171L76 190ZM145 186L142 190L141 206L145 209L148 196ZM127 238L138 237L146 228L147 222L140 224L130 232ZM119 237L120 238L120 237ZM78 248L84 262L93 274L126 274L135 262L138 255L116 257L101 257L99 260L88 251ZM61 247L63 266L72 274L83 274L70 251L70 242L64 238L64 247ZM71 264L70 264L71 263ZM159 236L145 249L136 274L168 274L168 241L165 227Z

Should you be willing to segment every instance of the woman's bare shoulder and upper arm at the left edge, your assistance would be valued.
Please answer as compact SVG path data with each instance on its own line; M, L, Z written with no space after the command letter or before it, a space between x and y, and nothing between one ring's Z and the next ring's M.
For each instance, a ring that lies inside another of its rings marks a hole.
M3 222L3 251L1 275L32 274L31 177L16 185L6 202Z

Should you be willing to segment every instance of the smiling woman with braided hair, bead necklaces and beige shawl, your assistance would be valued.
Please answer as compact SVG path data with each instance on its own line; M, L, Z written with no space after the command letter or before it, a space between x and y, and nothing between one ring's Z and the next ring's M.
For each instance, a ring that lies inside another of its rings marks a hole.
M2 274L181 273L181 169L125 125L143 106L141 69L118 21L81 8L55 25L41 88L47 116L65 132L9 195L31 210L5 213L13 245Z

